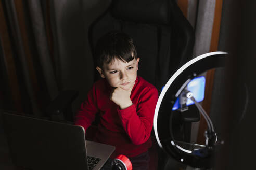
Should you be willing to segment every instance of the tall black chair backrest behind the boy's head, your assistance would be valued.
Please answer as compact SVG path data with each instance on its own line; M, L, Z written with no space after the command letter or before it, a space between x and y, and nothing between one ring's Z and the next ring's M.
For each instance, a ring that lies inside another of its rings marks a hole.
M111 30L132 36L140 58L138 75L159 92L192 57L194 30L175 0L112 1L89 28L92 51L97 40Z

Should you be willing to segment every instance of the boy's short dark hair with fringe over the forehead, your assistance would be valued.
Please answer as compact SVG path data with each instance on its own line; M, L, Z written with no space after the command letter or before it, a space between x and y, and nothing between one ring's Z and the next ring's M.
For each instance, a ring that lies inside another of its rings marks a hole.
M94 58L97 66L102 68L104 63L109 64L114 59L123 62L137 59L137 51L129 35L121 31L111 31L97 41Z

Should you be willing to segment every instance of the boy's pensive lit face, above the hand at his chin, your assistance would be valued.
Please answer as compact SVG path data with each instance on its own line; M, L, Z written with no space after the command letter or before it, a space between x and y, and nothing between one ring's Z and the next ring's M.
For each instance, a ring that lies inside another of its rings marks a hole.
M120 87L124 90L130 89L137 78L139 58L125 63L122 60L114 59L112 63L104 64L103 68L96 67L100 77L106 78L110 86Z

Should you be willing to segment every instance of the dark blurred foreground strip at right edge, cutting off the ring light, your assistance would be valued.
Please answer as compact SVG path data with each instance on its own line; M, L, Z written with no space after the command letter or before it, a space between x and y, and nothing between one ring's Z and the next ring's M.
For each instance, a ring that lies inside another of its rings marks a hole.
M255 169L255 8L255 1L223 1L219 49L229 56L226 72L216 72L213 92L213 120L224 140L216 169Z

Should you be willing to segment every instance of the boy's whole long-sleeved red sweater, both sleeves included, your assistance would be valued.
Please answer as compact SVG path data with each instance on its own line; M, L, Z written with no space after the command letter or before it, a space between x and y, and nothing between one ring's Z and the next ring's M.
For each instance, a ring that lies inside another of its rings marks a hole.
M75 125L83 126L86 131L99 112L100 123L94 141L116 146L112 158L118 154L135 157L151 147L150 134L158 91L137 76L130 96L133 105L122 110L109 99L111 92L112 87L106 79L95 82L75 116Z

